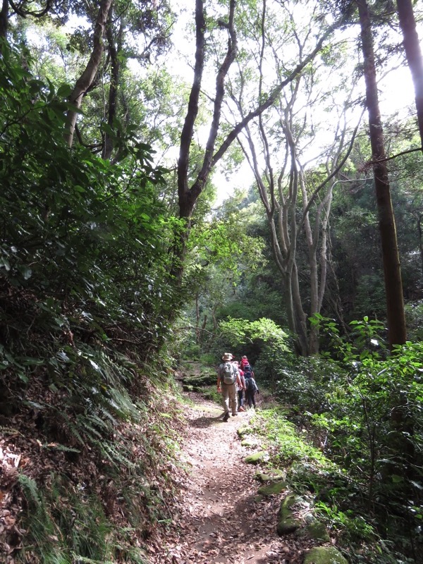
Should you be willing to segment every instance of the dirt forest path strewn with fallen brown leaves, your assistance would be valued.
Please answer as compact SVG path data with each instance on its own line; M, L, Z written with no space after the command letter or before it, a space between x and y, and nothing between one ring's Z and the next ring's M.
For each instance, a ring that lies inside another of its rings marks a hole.
M185 417L188 433L181 460L190 472L178 477L180 496L173 515L175 528L152 547L152 564L297 564L301 543L276 534L281 496L255 499L257 467L243 459L253 450L241 446L237 429L254 412L240 412L228 422L216 403L189 393L194 402Z

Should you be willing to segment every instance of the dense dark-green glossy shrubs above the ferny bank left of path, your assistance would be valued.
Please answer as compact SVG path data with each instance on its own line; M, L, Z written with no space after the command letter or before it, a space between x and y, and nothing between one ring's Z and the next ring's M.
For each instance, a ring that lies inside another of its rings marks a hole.
M50 333L53 372L66 366L75 329L106 342L106 327L116 333L130 320L139 343L157 343L171 302L163 282L167 224L154 188L163 171L152 168L142 143L128 145L120 166L83 147L69 151L63 140L67 88L32 79L6 49L1 64L4 341L16 345L25 327ZM8 305L18 293L26 295L20 319ZM18 367L26 379L31 355L7 348L3 355L3 367Z

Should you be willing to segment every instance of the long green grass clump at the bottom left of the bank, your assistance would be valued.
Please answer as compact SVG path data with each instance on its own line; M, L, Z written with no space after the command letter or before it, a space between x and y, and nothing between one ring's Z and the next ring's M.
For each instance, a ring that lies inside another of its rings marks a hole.
M45 564L109 564L119 556L125 562L145 563L144 551L131 546L136 527L118 529L96 494L53 473L48 488L39 488L25 474L19 482L27 503L24 525L32 541L20 555L24 562L35 557Z

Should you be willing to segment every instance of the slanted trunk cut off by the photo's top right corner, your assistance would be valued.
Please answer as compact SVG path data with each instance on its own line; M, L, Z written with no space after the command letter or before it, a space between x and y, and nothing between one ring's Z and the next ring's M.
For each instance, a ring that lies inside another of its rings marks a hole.
M398 17L403 32L405 55L415 86L417 121L423 152L423 58L417 35L411 0L397 0Z

